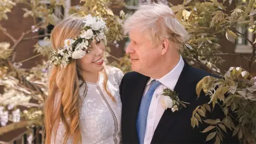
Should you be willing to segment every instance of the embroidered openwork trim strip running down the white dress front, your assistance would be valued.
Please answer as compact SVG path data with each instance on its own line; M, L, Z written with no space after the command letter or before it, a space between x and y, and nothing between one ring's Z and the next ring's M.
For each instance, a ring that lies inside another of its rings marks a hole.
M113 135L114 143L120 143L120 139L119 139L118 134L117 134L120 131L120 127L121 127L120 124L119 124L119 118L118 118L115 110L113 109L113 107L111 107L110 102L106 99L106 97L102 93L102 91L100 89L100 86L98 86L98 85L97 85L97 90L99 91L99 93L101 95L101 98L104 100L104 102L108 106L108 108L110 110L110 113L111 113L111 115L112 115L112 117L114 119L114 126L115 126L114 135Z

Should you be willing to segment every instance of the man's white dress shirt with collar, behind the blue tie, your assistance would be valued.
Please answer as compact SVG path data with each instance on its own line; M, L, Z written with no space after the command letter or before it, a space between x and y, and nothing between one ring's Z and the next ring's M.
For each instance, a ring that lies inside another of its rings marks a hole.
M145 144L148 144L151 142L154 132L156 130L156 127L165 111L161 102L162 92L166 88L172 91L174 90L174 87L178 82L178 79L183 67L184 67L184 61L180 56L180 60L178 64L168 74L166 74L160 79L156 79L156 81L161 82L161 85L156 88L149 106L146 133L145 133L145 139L144 139ZM149 79L143 95L147 93L150 83L153 80L154 80L153 78Z

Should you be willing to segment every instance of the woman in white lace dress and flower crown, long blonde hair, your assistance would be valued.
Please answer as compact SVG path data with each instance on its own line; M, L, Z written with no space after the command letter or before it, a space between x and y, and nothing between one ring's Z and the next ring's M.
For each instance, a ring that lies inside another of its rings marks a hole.
M104 66L105 29L105 22L91 15L69 17L54 27L46 143L120 143L123 73Z

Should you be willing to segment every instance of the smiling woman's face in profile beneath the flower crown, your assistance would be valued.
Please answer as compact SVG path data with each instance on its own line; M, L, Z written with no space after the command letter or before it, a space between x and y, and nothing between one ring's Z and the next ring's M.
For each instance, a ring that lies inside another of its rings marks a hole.
M102 41L92 42L92 50L86 53L82 59L77 60L77 66L85 73L98 73L104 68L103 53L105 45Z

